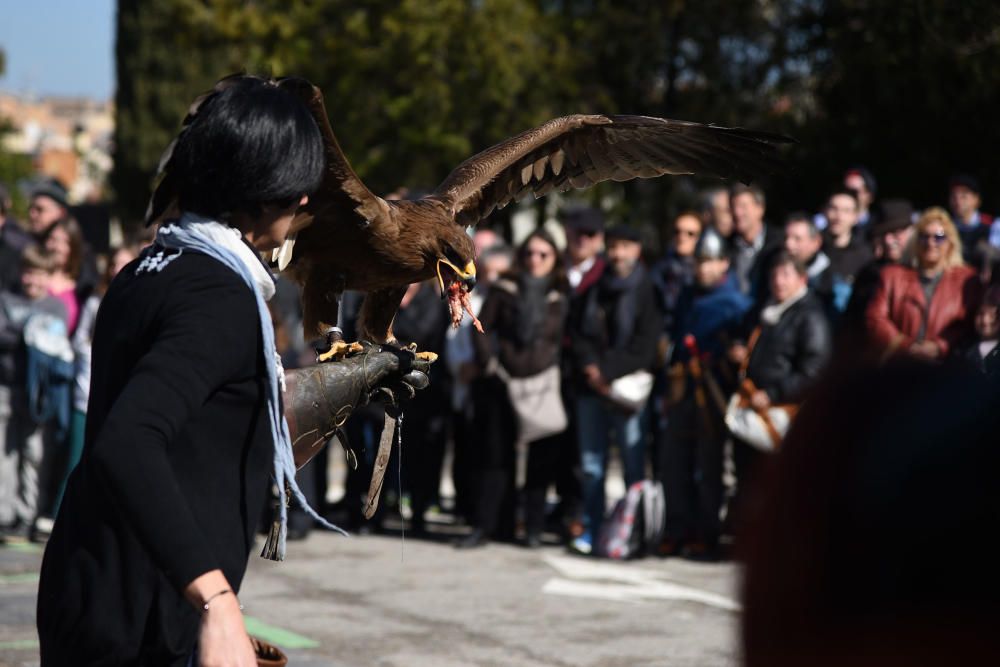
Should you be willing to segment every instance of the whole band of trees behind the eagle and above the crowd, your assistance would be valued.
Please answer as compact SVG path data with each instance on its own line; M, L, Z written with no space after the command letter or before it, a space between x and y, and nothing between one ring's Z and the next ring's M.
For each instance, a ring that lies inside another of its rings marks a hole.
M1000 182L1000 6L986 0L119 0L116 155L142 215L187 105L233 71L304 76L376 192L433 188L547 118L640 113L785 132L782 208L814 207L845 166L941 201L953 169ZM688 179L606 184L619 217L662 221ZM997 202L1000 203L1000 202Z

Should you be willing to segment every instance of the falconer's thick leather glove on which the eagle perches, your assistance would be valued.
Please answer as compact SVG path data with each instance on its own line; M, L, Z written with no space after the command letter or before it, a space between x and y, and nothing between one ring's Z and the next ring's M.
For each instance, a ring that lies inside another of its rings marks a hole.
M301 468L355 408L373 399L398 406L427 387L431 362L408 350L370 346L363 352L285 372L285 419Z

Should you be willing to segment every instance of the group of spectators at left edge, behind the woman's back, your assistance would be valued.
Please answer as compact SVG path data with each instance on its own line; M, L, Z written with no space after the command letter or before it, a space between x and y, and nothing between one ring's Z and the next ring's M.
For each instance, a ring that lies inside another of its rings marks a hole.
M83 447L100 296L138 249L95 254L58 182L24 222L10 204L0 185L0 531L44 539Z

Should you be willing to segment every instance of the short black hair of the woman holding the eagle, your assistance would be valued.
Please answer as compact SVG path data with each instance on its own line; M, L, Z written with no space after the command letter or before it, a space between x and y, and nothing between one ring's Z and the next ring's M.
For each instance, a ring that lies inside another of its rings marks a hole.
M225 84L222 87L221 84ZM178 204L217 220L286 208L323 177L323 138L309 109L270 79L220 82L177 138L169 170Z

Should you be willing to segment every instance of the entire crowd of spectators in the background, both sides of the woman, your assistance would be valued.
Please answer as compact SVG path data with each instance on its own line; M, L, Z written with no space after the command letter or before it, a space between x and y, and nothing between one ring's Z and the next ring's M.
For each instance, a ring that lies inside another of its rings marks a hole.
M834 359L954 360L989 381L1000 377L1000 222L980 210L977 181L953 178L947 208L918 211L876 195L873 175L850 169L818 211L775 224L758 187L715 188L699 210L671 222L658 257L636 227L607 226L594 208L564 211L558 233L536 230L517 247L476 231L472 303L485 335L468 318L449 327L433 282L403 298L396 335L441 360L431 388L404 411L402 488L387 484L384 493L405 494L408 529L428 535L425 518L442 505L449 461L452 509L469 527L456 547L558 540L590 554L617 453L626 486L662 484L661 555L724 556L752 504L750 480L769 456L733 427L734 405L794 419ZM83 441L100 295L137 254L128 246L95 256L55 185L33 194L24 223L9 215L0 189L5 539L44 538L58 510ZM344 297L348 338L359 302ZM309 363L294 286L279 280L270 305L285 366ZM47 336L32 334L39 329ZM69 372L58 363L67 360ZM371 523L361 518L379 410L369 405L347 424L362 461L327 508L354 529L378 530L398 506L383 500ZM329 455L299 473L313 501L327 495ZM289 537L310 525L293 511Z

